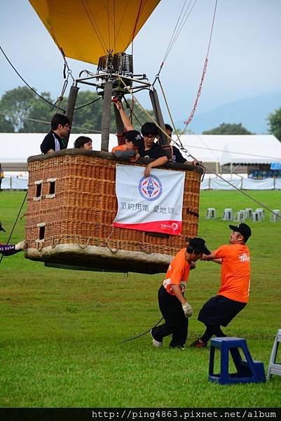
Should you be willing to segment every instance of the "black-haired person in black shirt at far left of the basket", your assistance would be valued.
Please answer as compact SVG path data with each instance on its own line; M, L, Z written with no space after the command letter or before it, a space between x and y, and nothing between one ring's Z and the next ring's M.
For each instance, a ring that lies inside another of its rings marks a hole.
M64 138L68 135L70 130L70 121L64 114L55 114L50 122L50 132L45 136L41 143L41 152L43 154L50 154L61 149L66 149Z

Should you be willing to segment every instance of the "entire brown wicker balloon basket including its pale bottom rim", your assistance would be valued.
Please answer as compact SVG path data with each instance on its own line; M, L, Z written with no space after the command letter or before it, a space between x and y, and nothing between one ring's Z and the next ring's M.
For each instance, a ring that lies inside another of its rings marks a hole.
M28 159L29 191L25 257L92 270L165 272L172 256L196 236L202 168L167 163L185 171L181 236L163 238L112 227L117 212L116 163L107 152L67 149ZM140 164L145 166L147 160Z

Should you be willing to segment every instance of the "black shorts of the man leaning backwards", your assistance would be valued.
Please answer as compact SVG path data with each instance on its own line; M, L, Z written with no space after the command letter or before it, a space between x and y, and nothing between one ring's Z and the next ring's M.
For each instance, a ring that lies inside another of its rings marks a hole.
M228 323L236 316L246 305L246 302L234 301L224 297L224 295L216 295L203 305L198 314L198 320L205 325L222 325L227 326Z

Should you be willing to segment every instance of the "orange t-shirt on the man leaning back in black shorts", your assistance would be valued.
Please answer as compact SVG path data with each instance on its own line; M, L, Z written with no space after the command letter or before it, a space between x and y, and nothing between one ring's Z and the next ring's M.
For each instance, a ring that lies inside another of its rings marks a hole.
M225 244L214 250L221 258L221 288L219 295L230 300L248 302L250 264L249 248L245 244Z

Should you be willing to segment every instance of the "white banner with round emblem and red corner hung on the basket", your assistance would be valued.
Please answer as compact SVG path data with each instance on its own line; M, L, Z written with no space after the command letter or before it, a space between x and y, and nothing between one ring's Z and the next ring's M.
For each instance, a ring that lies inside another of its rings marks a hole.
M181 234L185 173L116 165L118 212L114 227Z

